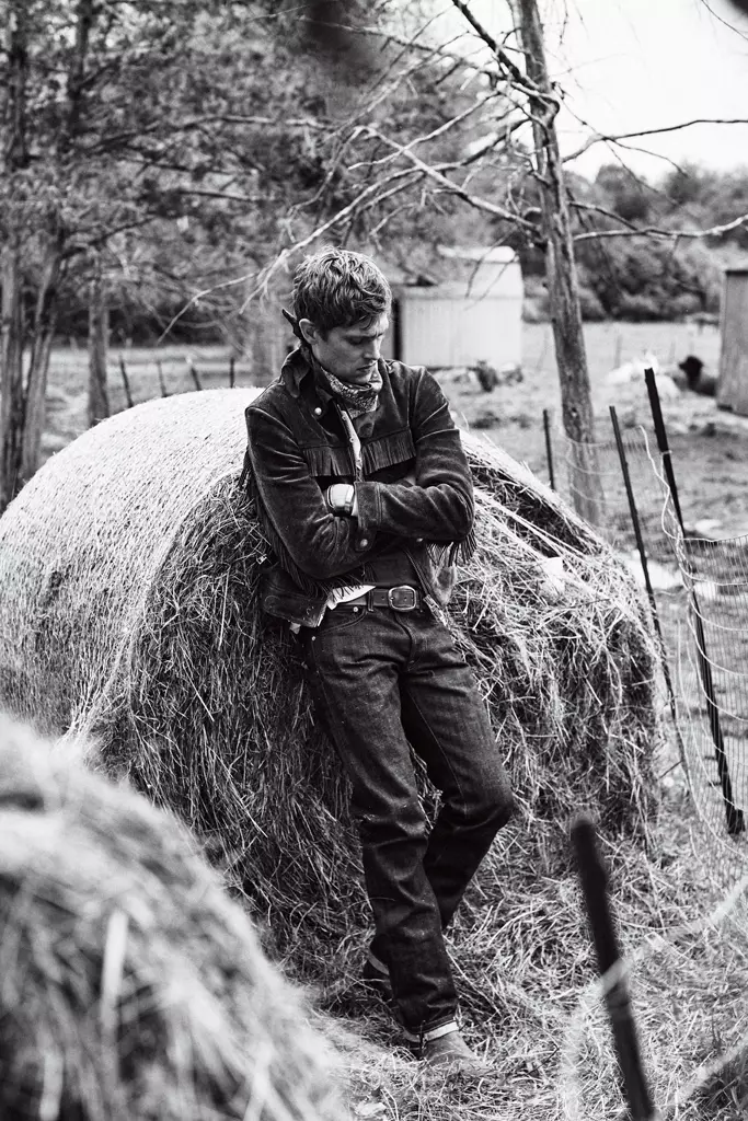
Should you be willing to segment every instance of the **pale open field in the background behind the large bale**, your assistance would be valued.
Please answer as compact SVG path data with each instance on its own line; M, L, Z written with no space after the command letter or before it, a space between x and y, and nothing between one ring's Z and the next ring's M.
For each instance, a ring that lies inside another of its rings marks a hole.
M649 423L641 383L626 387L607 385L606 374L615 367L640 359L647 352L654 354L662 367L667 367L693 353L717 371L719 333L714 327L683 323L595 323L588 324L584 334L593 400L600 417L600 441L611 438L607 415L610 405L618 408L625 427ZM109 358L111 411L117 413L127 406L122 363L131 397L137 404L159 395L159 365L166 391L177 393L196 388L191 367L196 370L203 388L228 386L230 362L229 350L220 346L113 349ZM44 458L85 429L86 369L85 349L58 346L53 351L47 427L43 437ZM481 428L509 454L547 479L543 409L551 410L556 427L561 416L550 324L525 325L523 370L521 382L498 386L491 393L483 393L469 374L454 377L444 371L440 378L461 424ZM241 358L234 362L237 385L267 385L274 376L274 371L267 369L253 370ZM676 463L683 463L678 478L683 501L695 520L700 510L713 509L712 498L726 507L730 521L744 511L748 517L748 494L736 460L736 448L739 450L742 443L742 423L733 420L728 414L718 413L713 400L693 395L681 401L666 402L665 418L674 457ZM720 439L715 441L713 436L718 429ZM685 443L681 444L684 438ZM678 451L681 447L682 454ZM715 495L710 493L712 485L717 489Z

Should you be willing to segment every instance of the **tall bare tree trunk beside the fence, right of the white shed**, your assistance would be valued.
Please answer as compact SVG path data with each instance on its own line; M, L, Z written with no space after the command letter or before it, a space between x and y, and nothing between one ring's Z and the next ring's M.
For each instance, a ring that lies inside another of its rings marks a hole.
M574 507L593 525L602 520L602 487L594 444L594 413L582 332L569 200L555 129L557 101L545 61L536 0L517 0L527 74L541 96L530 98L551 318L561 382L564 430L571 441L570 485Z

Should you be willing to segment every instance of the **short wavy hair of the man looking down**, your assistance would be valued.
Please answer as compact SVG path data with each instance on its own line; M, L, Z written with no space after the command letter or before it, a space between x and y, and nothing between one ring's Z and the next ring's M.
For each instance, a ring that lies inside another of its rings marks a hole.
M393 293L370 257L350 249L324 249L306 257L294 274L294 313L324 335L333 327L388 314Z

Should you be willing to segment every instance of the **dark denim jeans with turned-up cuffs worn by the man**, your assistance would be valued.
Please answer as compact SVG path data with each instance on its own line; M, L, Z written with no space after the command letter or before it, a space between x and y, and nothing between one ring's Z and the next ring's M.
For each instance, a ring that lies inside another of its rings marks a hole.
M352 781L373 910L405 1028L454 1019L442 930L512 798L470 669L428 610L338 606L302 643L327 730ZM410 745L442 805L428 834Z

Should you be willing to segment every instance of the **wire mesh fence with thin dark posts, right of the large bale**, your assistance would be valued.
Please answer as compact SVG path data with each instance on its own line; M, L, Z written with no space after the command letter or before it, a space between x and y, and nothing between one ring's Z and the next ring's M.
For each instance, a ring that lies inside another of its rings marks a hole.
M692 536L678 519L654 427L619 438L582 455L554 430L555 485L574 506L595 493L598 531L650 595L674 739L715 846L714 876L727 886L748 871L748 536Z

